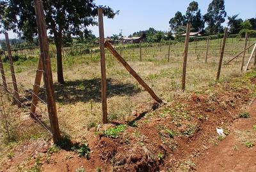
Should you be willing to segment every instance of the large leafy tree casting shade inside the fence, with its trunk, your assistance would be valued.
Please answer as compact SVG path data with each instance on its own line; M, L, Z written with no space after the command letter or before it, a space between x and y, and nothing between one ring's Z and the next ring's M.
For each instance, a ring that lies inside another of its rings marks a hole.
M58 82L64 83L62 69L62 38L66 36L83 36L88 34L88 25L95 25L97 6L95 0L48 0L44 2L45 22L47 31L54 36L57 50ZM2 2L2 1L1 1ZM36 35L36 18L33 1L8 0L4 14L4 29L13 29L26 38ZM115 17L118 11L113 11L108 6L101 6L104 15L108 18Z

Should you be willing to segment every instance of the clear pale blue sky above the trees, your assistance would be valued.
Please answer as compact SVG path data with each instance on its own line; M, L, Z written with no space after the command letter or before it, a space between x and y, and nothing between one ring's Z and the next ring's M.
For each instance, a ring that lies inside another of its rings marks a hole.
M112 36L118 34L120 29L124 36L128 36L133 32L145 30L149 27L161 31L168 31L169 20L177 11L183 14L186 12L189 3L193 0L96 0L96 4L107 5L114 10L120 10L119 15L114 19L104 18L105 36ZM209 3L212 0L198 0L199 8L202 14L205 14ZM255 0L225 0L225 10L228 16L236 15L243 20L246 18L256 17L256 1ZM223 25L227 25L227 20ZM98 27L89 27L93 34L99 35ZM14 38L10 32L10 38ZM4 35L0 34L0 39Z

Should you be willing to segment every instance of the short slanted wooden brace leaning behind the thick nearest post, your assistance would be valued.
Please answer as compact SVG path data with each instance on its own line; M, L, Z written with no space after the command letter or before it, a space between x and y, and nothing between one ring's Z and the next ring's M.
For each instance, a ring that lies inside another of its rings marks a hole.
M40 55L39 57L39 61L38 61L38 66L37 66L37 70L36 70L36 77L35 77L35 83L33 85L33 94L32 94L32 103L31 103L31 107L30 107L30 117L31 118L35 118L35 111L36 111L36 105L38 103L38 92L40 89L40 84L41 84L41 80L42 80L42 75L43 75L43 64L42 64L42 57Z

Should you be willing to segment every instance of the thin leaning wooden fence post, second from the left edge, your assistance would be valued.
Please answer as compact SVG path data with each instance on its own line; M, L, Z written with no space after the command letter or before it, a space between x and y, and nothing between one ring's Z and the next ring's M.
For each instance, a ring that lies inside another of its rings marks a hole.
M14 94L17 106L18 106L18 108L20 108L21 107L20 96L19 96L16 76L15 76L15 71L14 71L14 66L13 66L12 51L11 51L11 47L10 47L8 32L5 32L4 36L5 36L5 40L6 40L6 47L7 47L8 57L9 57L9 62L10 62L10 70L11 70L11 73L12 73L12 84L13 84L13 90L14 90L13 94Z

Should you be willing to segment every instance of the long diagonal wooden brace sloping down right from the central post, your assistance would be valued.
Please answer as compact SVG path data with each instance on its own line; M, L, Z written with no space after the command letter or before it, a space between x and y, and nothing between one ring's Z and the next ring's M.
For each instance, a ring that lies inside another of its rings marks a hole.
M131 73L131 75L140 83L140 85L147 90L147 92L150 94L150 96L153 97L153 99L155 99L158 103L163 103L163 101L161 99L159 99L159 97L156 96L156 94L154 93L154 91L152 89L150 89L150 87L148 87L147 83L145 83L141 77L134 71L134 69L131 68L131 66L125 62L124 58L121 57L118 52L116 52L115 48L112 47L112 45L109 43L109 41L105 42L105 47L109 50L109 52L111 52L111 54L113 54L116 59L122 63L122 65L124 66L125 69L127 69L127 71L129 71L129 73Z

